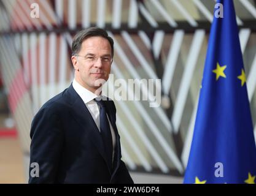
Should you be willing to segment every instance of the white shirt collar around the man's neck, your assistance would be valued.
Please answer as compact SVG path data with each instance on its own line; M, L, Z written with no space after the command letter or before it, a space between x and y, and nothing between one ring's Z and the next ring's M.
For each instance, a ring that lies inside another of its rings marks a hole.
M72 82L72 86L85 104L98 97L98 95L80 85L75 79Z

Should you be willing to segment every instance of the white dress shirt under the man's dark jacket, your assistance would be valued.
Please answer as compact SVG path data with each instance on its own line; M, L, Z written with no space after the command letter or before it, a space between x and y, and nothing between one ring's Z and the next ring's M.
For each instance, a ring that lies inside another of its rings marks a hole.
M79 94L79 96L82 98L83 103L85 103L85 106L88 108L88 110L91 113L91 116L93 117L96 126L98 127L99 132L100 129L100 123L99 123L99 106L95 102L95 98L98 97L98 95L94 94L93 92L89 91L88 89L84 88L82 85L80 85L75 79L72 82L72 86ZM107 116L107 120L109 121L109 116ZM115 132L112 127L112 124L109 121L109 127L111 128L111 135L112 135L112 141L113 141L113 157L114 159L114 152L115 152Z

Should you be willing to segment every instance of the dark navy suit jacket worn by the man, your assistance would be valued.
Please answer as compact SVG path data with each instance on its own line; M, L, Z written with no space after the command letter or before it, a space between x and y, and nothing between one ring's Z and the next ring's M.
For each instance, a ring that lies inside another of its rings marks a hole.
M30 175L31 167L29 183L133 183L121 160L112 100L106 101L106 109L117 138L113 167L98 127L72 85L48 100L31 124L30 165L39 164L39 177Z

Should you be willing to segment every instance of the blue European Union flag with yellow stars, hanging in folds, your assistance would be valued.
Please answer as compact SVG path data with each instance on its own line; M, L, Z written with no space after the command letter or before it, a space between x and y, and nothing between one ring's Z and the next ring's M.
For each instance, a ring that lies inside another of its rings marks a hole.
M184 183L255 184L256 148L233 1L217 1Z

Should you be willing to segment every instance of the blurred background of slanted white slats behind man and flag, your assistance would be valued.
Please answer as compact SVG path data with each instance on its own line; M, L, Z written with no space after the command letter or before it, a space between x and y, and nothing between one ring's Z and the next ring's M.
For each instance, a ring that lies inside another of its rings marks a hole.
M255 134L256 1L234 2ZM115 100L134 182L182 183L214 6L214 0L1 0L0 183L27 183L33 116L71 84L72 38L90 26L114 38L115 79L161 79L160 107Z

